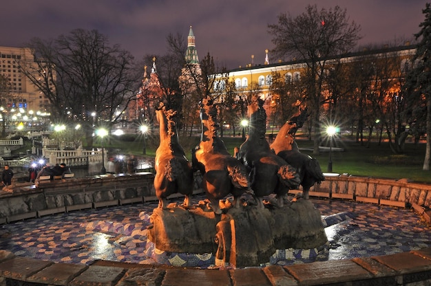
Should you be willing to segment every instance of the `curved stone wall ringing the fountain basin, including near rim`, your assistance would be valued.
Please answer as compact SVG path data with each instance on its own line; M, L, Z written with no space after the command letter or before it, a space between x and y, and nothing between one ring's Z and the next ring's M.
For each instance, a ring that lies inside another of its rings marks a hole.
M40 188L16 186L2 193L0 219L25 219L109 204L156 199L154 175L95 177L50 182ZM431 186L401 180L336 176L316 185L310 195L391 206L412 206L426 218ZM300 190L292 190L292 193ZM429 219L429 216L428 216ZM329 270L329 271L328 271ZM428 285L431 283L431 248L339 261L320 261L289 266L244 269L196 270L154 267L111 261L92 265L52 263L14 256L0 250L0 284L25 285Z

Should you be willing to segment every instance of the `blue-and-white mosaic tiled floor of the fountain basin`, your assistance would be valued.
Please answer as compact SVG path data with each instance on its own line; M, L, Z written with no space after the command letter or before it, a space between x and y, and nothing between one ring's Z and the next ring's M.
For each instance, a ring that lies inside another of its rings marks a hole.
M311 201L322 213L324 223L330 225L325 228L330 260L431 246L430 227L413 210L336 199ZM0 225L0 249L54 262L91 264L109 260L189 266L196 265L193 259L198 259L199 267L211 267L211 254L166 256L154 249L147 241L146 228L156 207L157 202L140 203Z

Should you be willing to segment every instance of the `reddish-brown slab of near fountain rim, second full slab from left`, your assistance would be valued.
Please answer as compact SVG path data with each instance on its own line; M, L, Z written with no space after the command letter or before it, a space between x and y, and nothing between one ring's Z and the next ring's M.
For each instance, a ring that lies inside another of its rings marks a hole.
M87 269L86 265L56 263L28 277L27 281L51 285L67 285L85 269Z

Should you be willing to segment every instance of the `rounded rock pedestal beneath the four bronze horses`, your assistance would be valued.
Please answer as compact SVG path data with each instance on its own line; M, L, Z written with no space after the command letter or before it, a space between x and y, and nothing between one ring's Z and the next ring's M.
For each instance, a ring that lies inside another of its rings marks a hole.
M328 242L320 212L299 199L283 208L224 209L217 215L200 205L192 210L156 208L149 240L169 252L213 253L217 265L268 263L276 250L311 249Z

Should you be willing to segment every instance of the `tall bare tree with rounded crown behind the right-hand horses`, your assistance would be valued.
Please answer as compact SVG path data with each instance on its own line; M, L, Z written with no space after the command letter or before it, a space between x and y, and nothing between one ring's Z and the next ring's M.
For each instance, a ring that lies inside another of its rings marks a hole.
M346 10L339 6L318 11L317 5L308 5L306 12L295 18L280 14L278 24L268 27L274 36L275 56L296 58L306 63L307 105L315 126L313 153L317 154L325 69L330 58L339 57L355 47L360 39L360 27L354 21L349 23Z

